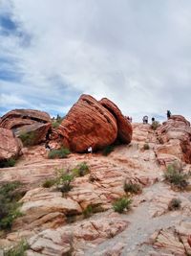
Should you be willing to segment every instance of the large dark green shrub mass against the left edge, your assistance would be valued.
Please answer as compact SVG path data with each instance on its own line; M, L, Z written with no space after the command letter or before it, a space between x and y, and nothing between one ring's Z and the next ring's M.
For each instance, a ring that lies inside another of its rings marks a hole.
M21 183L18 181L0 185L0 229L11 229L12 222L21 216L18 200L23 192L19 191Z

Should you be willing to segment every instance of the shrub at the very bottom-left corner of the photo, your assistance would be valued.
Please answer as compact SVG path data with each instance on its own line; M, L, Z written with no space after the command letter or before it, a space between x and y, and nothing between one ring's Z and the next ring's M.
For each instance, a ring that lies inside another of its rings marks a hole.
M16 246L4 250L4 256L25 256L27 249L29 249L29 244L23 240Z

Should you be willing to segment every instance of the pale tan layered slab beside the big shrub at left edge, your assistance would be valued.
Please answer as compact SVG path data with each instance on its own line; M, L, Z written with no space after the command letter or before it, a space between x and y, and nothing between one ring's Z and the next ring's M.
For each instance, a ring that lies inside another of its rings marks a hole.
M67 215L81 213L81 207L70 198L62 198L61 192L49 192L36 188L21 199L23 217L14 222L13 230L53 228L66 221Z

